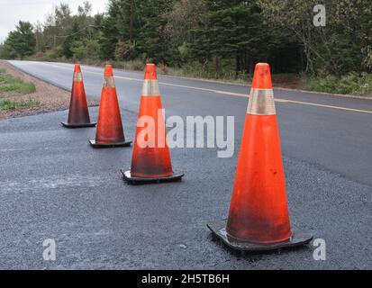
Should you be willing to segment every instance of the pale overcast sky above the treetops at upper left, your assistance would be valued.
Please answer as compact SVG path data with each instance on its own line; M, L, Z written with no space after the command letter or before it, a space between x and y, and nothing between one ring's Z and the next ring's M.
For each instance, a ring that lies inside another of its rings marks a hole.
M0 0L0 43L3 42L9 31L14 30L18 21L43 22L46 14L50 14L53 6L60 2L67 3L76 13L77 6L84 0ZM108 0L90 0L93 12L104 12Z

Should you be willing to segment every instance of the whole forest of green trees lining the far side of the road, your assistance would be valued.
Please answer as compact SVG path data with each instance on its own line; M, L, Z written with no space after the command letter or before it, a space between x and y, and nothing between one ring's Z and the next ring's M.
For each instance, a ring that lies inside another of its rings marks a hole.
M199 67L218 77L252 73L268 61L274 73L342 76L372 72L371 0L110 0L92 15L59 4L42 23L20 22L0 58L156 62Z

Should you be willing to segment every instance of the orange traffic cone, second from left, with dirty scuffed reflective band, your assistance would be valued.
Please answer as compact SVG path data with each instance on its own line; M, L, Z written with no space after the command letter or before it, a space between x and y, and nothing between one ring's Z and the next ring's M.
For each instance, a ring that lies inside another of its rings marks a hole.
M97 130L95 139L89 140L89 143L93 148L128 147L132 144L124 137L111 65L104 67L104 87L99 105Z

